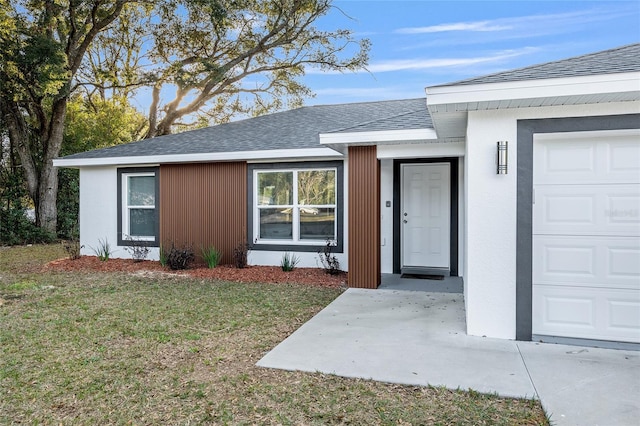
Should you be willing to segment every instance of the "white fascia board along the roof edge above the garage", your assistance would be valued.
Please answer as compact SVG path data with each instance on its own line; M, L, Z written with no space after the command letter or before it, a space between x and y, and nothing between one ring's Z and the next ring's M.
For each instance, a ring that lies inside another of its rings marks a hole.
M638 92L640 72L427 87L427 106ZM460 105L459 105L460 106ZM468 108L468 105L467 105Z

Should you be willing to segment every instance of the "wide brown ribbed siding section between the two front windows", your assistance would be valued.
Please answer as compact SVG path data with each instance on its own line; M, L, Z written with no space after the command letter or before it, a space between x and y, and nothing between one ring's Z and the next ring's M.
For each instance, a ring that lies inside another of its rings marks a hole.
M247 164L205 163L160 166L160 242L200 248L215 246L223 264L246 241Z

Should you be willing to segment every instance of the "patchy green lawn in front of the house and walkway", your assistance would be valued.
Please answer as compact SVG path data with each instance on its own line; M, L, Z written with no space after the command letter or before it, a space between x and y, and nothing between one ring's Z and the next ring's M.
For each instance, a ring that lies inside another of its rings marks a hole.
M0 248L0 424L548 424L536 401L258 368L339 290L42 273Z

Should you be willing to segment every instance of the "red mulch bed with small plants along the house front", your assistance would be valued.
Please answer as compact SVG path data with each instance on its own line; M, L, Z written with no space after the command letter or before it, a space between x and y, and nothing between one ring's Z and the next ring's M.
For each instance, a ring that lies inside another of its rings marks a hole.
M329 275L320 268L295 268L284 272L279 266L247 266L238 269L230 265L220 265L213 269L203 265L194 265L184 271L172 271L164 268L159 262L145 260L134 262L131 259L109 259L100 261L95 256L82 256L79 259L58 259L44 267L48 271L82 271L82 272L150 272L159 274L178 274L192 278L205 278L233 282L259 283L297 283L321 287L343 287L347 282L347 274Z

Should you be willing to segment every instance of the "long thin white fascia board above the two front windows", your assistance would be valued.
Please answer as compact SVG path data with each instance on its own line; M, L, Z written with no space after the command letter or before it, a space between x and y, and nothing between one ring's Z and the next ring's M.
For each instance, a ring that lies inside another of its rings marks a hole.
M172 163L205 163L213 161L255 161L255 160L281 160L288 158L326 158L340 157L341 154L330 148L308 149L276 149L268 151L237 151L237 152L211 152L204 154L178 154L178 155L149 155L134 157L103 157L103 158L56 158L53 160L55 167L92 167L92 166L124 166L147 164L172 164Z

